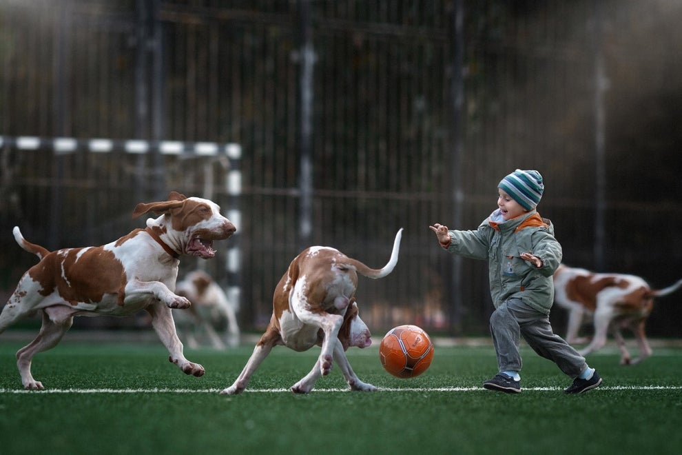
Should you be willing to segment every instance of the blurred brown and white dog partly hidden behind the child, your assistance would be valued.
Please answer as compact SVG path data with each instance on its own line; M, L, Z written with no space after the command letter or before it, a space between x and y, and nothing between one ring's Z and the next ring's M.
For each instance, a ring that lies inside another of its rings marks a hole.
M569 311L568 343L585 343L578 338L584 319L592 316L595 334L592 341L579 350L581 355L595 352L606 344L610 330L621 350L621 365L639 363L651 355L645 335L645 322L651 314L654 298L671 294L682 287L682 280L661 290L652 290L639 276L595 273L581 268L559 265L554 274L555 303ZM630 360L621 328L632 330L639 346L639 358Z

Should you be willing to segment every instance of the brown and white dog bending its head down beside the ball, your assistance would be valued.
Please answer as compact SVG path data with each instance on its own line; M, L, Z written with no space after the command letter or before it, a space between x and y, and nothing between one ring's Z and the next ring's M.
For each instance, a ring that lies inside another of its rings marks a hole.
M371 392L371 384L360 381L353 372L345 351L350 346L371 345L371 334L360 319L355 290L358 273L372 279L382 278L397 264L402 229L395 235L389 263L374 270L331 247L309 247L296 256L275 288L273 313L254 353L234 383L220 394L240 394L251 375L276 345L294 351L320 345L318 361L291 392L307 394L320 376L331 372L332 358L351 390Z

